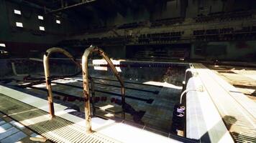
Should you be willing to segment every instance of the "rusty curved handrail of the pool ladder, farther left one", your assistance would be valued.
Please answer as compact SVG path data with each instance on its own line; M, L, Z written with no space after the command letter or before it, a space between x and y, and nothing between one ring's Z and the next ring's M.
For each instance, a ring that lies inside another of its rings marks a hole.
M52 53L62 53L65 54L65 56L68 56L68 58L73 61L78 67L81 68L81 64L79 64L76 59L68 52L65 51L65 49L60 49L60 48L50 48L47 49L44 55L43 63L44 63L44 69L45 69L45 82L46 82L46 88L47 88L47 99L48 99L48 104L49 104L49 112L51 115L51 118L55 117L55 112L54 112L54 106L52 102L52 86L51 86L51 79L50 79L50 70L49 70L49 57Z

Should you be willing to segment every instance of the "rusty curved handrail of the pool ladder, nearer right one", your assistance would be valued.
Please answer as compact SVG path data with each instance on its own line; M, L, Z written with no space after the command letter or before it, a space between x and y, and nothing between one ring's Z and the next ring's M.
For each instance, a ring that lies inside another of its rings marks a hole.
M86 118L86 132L91 133L91 109L90 109L90 91L89 91L89 82L88 82L88 56L93 53L96 52L99 55L101 55L106 62L108 63L109 67L111 68L111 70L114 72L114 75L116 76L116 78L118 79L118 81L121 84L121 93L122 93L122 117L124 119L125 117L125 112L124 112L124 103L125 103L125 98L124 98L124 82L122 81L119 72L116 70L116 68L114 67L114 64L112 63L112 61L109 59L108 56L106 56L106 54L104 53L104 51L102 49L99 49L96 46L90 46L88 49L86 49L86 51L84 51L83 53L83 57L82 57L82 70L83 70L83 96L85 99L85 118Z

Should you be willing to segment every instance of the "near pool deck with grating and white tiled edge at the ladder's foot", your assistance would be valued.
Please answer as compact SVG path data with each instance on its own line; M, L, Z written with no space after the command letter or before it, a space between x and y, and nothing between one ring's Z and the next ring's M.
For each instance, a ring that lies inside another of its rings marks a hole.
M184 142L182 137L164 137L160 134L149 132L143 127L133 127L124 122L93 117L92 129L89 135L85 132L85 120L68 114L67 107L55 104L57 118L49 117L47 100L33 97L29 94L0 86L1 112L19 120L21 124L35 129L43 137L53 142ZM14 105L16 107L13 109ZM34 109L34 110L33 110ZM22 111L24 112L22 112ZM32 111L31 111L32 110ZM29 117L30 116L30 117ZM76 134L75 134L76 133ZM175 139L173 139L175 138Z

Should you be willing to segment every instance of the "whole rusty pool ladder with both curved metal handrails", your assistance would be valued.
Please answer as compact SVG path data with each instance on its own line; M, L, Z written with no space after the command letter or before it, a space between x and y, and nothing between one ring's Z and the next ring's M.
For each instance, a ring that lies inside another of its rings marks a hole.
M55 117L55 112L54 112L54 106L53 106L53 99L52 99L52 87L51 87L51 79L50 79L50 70L49 70L49 58L52 53L61 53L65 54L65 56L68 56L68 58L73 61L78 67L82 68L82 73L83 73L83 97L84 97L84 102L85 102L85 119L86 119L86 132L91 133L91 109L90 109L90 91L89 91L89 80L91 81L91 96L92 96L92 105L93 105L93 115L95 115L95 105L94 105L94 83L93 79L89 76L88 74L88 56L96 52L99 55L101 55L108 63L109 67L111 68L111 71L114 72L114 75L118 79L118 81L121 84L121 93L122 93L122 118L125 118L125 112L124 112L124 103L125 103L125 92L124 92L124 82L122 81L118 71L114 67L114 64L112 61L109 59L108 56L104 53L102 49L99 49L96 46L90 46L86 51L83 53L82 57L82 67L81 64L79 64L76 59L68 53L68 51L65 51L65 49L60 49L60 48L51 48L47 49L44 55L43 63L44 63L44 69L45 69L45 82L46 82L46 87L47 87L47 100L49 104L49 112L51 118Z

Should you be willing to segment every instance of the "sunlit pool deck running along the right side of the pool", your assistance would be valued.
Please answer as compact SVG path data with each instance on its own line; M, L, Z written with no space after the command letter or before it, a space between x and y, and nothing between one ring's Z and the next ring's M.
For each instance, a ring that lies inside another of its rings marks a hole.
M234 141L256 142L255 102L203 64L193 66Z

